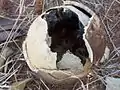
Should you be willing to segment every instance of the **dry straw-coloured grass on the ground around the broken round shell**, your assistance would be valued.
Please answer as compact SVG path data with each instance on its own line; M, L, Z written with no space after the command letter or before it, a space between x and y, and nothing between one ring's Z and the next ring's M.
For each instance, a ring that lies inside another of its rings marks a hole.
M10 2L9 5L6 4L7 1ZM79 79L79 82L76 82L71 90L98 90L98 88L99 90L103 90L104 85L106 85L105 77L120 77L120 1L77 1L90 7L100 17L104 26L107 44L111 48L111 53L108 60L105 60L98 67L93 69L94 77L89 76L85 78L85 80ZM14 21L6 41L0 43L0 55L2 60L6 61L5 64L0 67L0 90L7 90L11 87L12 83L22 81L27 78L32 78L32 80L27 83L25 90L70 90L68 89L71 88L69 86L67 89L61 89L54 85L48 85L41 79L34 77L23 58L21 43L24 40L24 37L19 37L17 39L14 38L15 32L19 29L26 33L28 26L36 18L37 15L35 15L34 12L35 0L0 0L0 2L5 2L4 6L0 3L0 10L4 13L0 14L0 18ZM44 9L51 6L60 5L61 2L58 0L44 0L43 4L42 8L44 11ZM11 5L13 5L13 7L11 7ZM14 10L15 12L11 12L9 9ZM0 26L0 28L5 31L4 27ZM12 51L14 52L6 58L4 57L3 52L8 47L12 48Z

